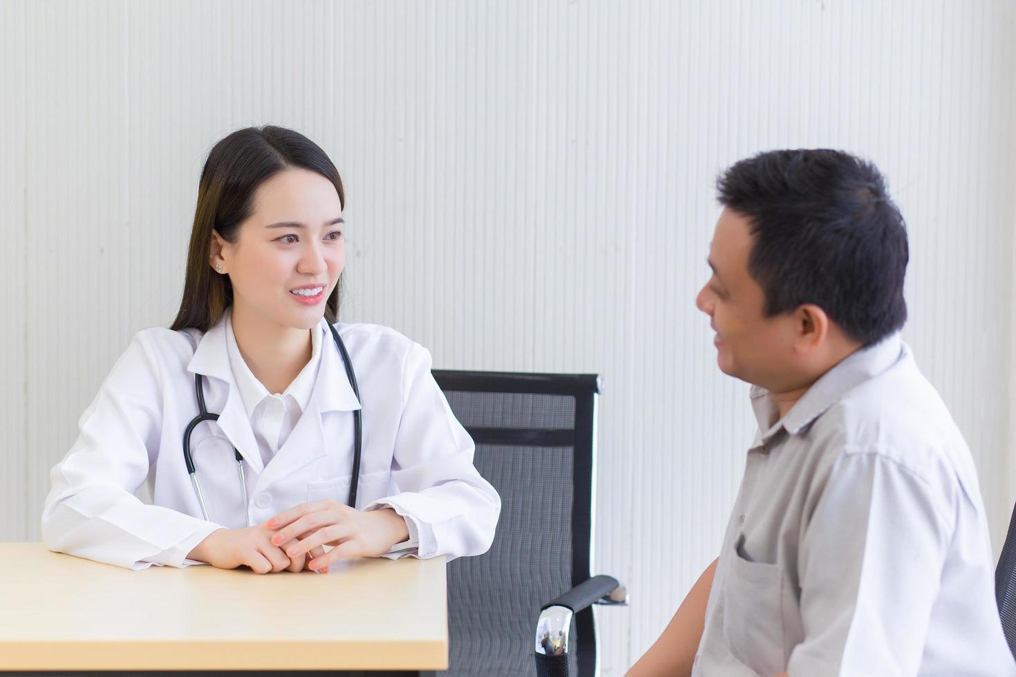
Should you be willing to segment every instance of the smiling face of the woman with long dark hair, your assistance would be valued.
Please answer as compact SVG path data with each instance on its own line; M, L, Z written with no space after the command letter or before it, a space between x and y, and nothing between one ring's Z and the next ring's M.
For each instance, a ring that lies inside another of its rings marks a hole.
M316 326L345 266L341 213L334 185L315 172L289 168L261 184L237 241L212 234L210 263L230 276L234 315Z

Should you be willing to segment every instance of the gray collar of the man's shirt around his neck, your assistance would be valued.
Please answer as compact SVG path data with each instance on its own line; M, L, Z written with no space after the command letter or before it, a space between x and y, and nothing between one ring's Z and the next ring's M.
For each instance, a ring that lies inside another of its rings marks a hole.
M752 409L759 424L752 448L765 445L780 430L800 434L847 392L879 376L908 355L909 351L899 334L893 334L851 353L812 384L786 415L778 420L779 408L769 398L769 391L752 386Z

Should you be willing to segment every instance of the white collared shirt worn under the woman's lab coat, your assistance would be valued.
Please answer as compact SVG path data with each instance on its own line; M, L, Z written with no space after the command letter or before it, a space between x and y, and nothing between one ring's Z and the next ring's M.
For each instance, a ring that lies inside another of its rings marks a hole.
M231 309L232 310L232 309ZM321 332L318 325L311 332L311 358L287 387L282 394L271 394L257 380L240 353L237 337L233 333L233 314L227 311L226 341L230 356L230 368L236 379L240 399L243 400L247 416L251 419L251 429L257 439L258 451L264 465L278 453L285 444L300 415L307 409L317 380L318 365L321 363Z

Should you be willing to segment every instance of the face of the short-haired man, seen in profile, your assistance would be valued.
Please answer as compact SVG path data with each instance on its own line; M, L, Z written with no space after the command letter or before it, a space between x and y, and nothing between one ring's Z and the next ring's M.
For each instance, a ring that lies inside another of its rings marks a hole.
M724 209L709 248L712 277L695 304L709 316L719 368L780 392L800 381L795 354L798 332L792 314L765 317L765 293L748 271L752 246L749 220Z

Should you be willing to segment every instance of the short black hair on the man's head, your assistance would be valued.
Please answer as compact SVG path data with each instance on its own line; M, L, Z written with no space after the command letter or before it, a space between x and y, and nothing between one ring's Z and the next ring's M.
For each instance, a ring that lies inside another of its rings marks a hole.
M773 150L736 163L716 187L751 223L748 272L767 317L814 303L862 345L906 322L906 226L875 164L839 150Z

